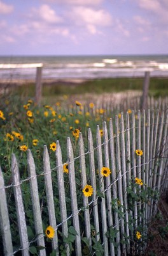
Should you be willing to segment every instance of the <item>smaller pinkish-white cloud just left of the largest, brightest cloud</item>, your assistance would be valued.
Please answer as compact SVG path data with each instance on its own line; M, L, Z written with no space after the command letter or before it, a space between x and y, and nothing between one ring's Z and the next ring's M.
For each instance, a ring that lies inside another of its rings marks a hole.
M59 15L55 13L55 10L50 8L50 6L48 6L47 4L41 5L38 10L33 9L31 17L34 17L34 15L36 15L36 18L39 17L50 24L62 22L62 18L59 17Z

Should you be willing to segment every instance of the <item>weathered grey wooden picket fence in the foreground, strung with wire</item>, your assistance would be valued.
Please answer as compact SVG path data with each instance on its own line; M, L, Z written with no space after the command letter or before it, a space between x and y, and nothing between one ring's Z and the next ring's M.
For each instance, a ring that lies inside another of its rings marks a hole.
M109 120L109 127L103 123L103 137L97 125L96 145L91 129L88 129L88 141L83 141L80 133L78 139L79 154L74 157L73 145L67 138L67 163L69 194L65 188L65 175L63 172L62 150L57 141L55 151L55 168L50 166L50 157L46 145L43 153L43 172L36 173L36 166L31 150L27 150L27 166L29 176L20 180L20 170L15 154L11 157L12 184L4 184L4 173L0 168L0 222L3 239L4 255L30 255L32 244L44 246L39 255L47 255L45 249L45 232L43 229L43 214L39 202L38 178L43 176L45 181L46 204L48 206L48 223L55 229L52 239L52 249L55 255L60 255L59 233L64 237L69 235L69 220L72 220L76 230L73 255L83 254L83 237L87 237L87 255L96 255L93 246L101 244L102 255L128 255L131 251L131 240L135 240L135 232L139 225L145 228L151 217L157 212L158 198L148 198L148 202L134 202L134 209L129 209L129 195L127 188L135 177L143 180L144 191L150 187L158 191L159 195L168 188L168 115L167 111L138 111L137 116L132 114L115 116ZM87 148L87 150L86 150ZM135 154L136 149L143 150L143 156ZM63 154L66 154L63 152ZM80 165L80 182L76 182L76 166ZM106 166L111 170L108 177L102 177L101 168ZM53 186L52 173L56 171L57 187ZM34 215L34 228L36 236L29 241L27 224L22 198L22 185L27 182L31 188L32 211ZM78 184L77 184L78 183ZM82 189L86 184L92 185L93 195L86 197ZM6 191L13 189L17 209L20 248L13 248L13 239L10 231L8 215L8 202ZM80 188L80 191L79 191ZM55 214L53 190L59 193L59 207L61 221L57 221ZM81 197L78 196L81 193ZM136 188L134 188L136 194ZM67 215L67 196L71 200L71 214ZM81 199L82 198L82 199ZM83 200L83 202L81 202ZM79 205L82 204L82 207ZM115 206L114 206L115 205ZM144 210L145 209L145 210ZM93 229L94 227L94 229ZM109 237L109 230L115 236ZM144 231L144 234L146 231ZM94 239L92 238L94 237ZM144 248L143 248L144 249ZM71 255L69 244L65 244L66 255ZM139 254L140 255L140 254Z

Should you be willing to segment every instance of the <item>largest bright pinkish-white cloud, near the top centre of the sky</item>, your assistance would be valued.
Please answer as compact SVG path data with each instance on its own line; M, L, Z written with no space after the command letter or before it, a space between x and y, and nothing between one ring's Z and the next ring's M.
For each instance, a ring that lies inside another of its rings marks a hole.
M73 8L73 17L77 22L87 25L110 26L112 22L112 17L106 10L93 10L83 6Z

